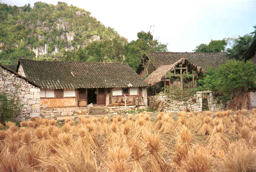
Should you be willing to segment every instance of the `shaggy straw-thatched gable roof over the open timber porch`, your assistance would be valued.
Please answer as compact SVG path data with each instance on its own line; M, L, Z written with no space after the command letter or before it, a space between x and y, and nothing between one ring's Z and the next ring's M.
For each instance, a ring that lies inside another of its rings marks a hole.
M172 71L178 64L190 64L193 66L194 70L199 73L205 72L203 68L200 66L197 66L193 63L191 63L186 58L181 58L180 60L177 60L175 63L171 65L163 65L158 67L154 72L152 72L144 81L148 84L154 85L162 80L162 78L167 75L169 72Z

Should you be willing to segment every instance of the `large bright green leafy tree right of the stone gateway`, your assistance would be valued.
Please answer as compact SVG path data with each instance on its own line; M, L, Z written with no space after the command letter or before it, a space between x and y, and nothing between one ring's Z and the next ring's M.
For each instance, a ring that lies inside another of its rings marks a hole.
M217 69L208 69L208 73L198 80L198 89L215 92L215 95L230 96L236 89L255 87L256 65L250 60L228 60Z

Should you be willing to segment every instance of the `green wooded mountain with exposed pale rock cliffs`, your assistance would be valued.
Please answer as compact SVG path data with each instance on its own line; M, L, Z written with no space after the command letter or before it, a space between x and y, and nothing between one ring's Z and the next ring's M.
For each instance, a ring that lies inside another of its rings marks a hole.
M105 27L89 11L58 2L37 2L32 8L0 3L0 63L17 58L58 57L99 40L127 40Z

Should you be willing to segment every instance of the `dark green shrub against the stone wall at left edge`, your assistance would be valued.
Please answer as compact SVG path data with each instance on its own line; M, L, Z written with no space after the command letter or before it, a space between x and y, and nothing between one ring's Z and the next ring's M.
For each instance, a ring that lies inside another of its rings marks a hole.
M0 92L0 123L14 120L22 107L17 92L8 94Z

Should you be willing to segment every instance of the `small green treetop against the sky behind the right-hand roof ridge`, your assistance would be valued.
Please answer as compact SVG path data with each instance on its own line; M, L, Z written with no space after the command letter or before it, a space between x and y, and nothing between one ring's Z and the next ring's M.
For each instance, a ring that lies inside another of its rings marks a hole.
M196 46L194 52L224 52L225 46L227 46L226 40L211 40L211 42L207 45L202 43L199 46Z

